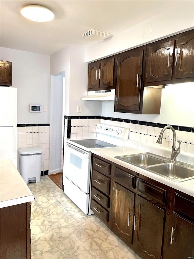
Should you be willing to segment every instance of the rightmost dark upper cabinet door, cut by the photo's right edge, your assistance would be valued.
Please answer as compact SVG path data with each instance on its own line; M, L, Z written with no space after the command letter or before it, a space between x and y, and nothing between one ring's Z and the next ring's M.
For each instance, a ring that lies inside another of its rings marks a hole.
M176 41L175 78L194 77L194 32Z

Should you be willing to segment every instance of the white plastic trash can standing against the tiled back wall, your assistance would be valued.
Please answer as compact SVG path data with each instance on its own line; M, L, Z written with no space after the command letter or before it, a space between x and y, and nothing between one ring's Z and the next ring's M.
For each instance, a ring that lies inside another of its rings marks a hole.
M20 174L25 183L40 182L42 148L19 148Z

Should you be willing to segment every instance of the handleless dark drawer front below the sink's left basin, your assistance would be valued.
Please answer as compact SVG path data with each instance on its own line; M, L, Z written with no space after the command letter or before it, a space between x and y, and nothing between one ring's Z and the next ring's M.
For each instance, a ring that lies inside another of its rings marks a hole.
M115 167L115 182L124 185L125 187L135 188L136 176L133 176L117 167Z

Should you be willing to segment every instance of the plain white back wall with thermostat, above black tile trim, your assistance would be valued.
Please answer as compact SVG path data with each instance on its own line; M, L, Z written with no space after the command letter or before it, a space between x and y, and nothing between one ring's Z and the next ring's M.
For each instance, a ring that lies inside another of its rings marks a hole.
M50 56L1 47L0 59L12 62L12 87L18 92L18 124L49 123ZM29 104L47 106L30 113Z

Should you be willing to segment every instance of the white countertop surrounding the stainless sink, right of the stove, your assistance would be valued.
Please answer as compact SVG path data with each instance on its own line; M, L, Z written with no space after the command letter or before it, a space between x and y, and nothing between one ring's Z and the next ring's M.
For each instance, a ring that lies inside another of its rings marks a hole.
M95 148L92 149L92 153L194 197L194 179L187 180L184 182L174 182L155 173L149 172L146 169L139 168L135 165L131 165L127 162L123 162L115 158L115 156L145 153L145 151L126 146L113 148Z

